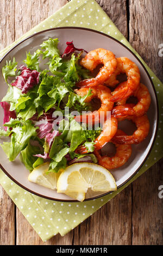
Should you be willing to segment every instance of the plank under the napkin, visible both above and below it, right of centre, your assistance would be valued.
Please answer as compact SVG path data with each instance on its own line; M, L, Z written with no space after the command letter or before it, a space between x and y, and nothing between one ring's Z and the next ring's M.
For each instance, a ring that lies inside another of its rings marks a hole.
M128 38L126 1L97 0L110 19ZM83 235L84 234L84 235ZM131 186L74 229L75 245L131 244Z

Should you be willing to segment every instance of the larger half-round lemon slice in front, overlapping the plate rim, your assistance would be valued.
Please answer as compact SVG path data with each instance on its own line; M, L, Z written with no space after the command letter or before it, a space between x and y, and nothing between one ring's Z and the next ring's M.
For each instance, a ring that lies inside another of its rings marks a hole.
M79 201L84 200L88 188L109 192L116 190L117 186L112 174L95 163L74 163L60 174L57 181L58 193L65 193Z

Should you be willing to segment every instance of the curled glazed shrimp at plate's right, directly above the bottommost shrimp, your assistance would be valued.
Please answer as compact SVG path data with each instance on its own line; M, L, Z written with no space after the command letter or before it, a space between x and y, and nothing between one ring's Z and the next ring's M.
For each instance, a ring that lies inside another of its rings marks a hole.
M149 120L147 115L142 115L142 117L129 117L126 119L132 120L137 130L130 136L115 135L114 138L112 138L112 142L117 144L139 144L147 137L149 132Z

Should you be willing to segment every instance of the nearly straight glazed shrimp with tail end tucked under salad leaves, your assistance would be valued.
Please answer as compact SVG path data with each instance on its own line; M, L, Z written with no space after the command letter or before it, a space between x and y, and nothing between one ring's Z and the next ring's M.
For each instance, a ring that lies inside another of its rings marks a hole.
M115 136L117 132L118 122L117 119L114 117L108 118L104 125L103 125L103 131L101 134L95 139L95 150L99 150L104 147L106 143L108 143L112 137ZM78 154L85 154L87 153L87 149L82 145L79 146L76 150L76 153Z

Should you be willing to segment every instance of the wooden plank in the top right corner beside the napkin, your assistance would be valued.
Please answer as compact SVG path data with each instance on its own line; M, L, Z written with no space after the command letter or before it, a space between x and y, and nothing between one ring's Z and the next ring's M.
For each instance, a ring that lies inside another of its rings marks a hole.
M129 41L156 76L163 80L163 58L159 44L163 38L162 0L130 0Z

